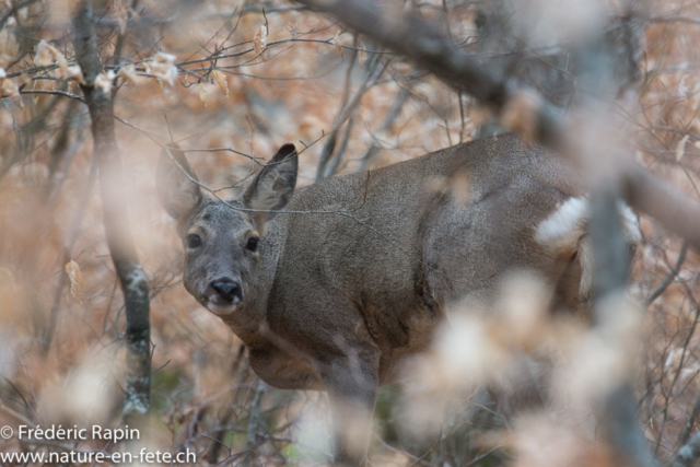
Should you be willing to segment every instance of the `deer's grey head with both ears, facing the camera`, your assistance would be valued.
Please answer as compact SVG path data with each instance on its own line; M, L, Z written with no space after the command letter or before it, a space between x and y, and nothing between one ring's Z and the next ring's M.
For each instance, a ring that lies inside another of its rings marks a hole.
M245 302L265 224L291 199L296 170L296 150L284 144L237 198L223 202L203 195L177 145L161 152L158 196L183 238L183 282L210 312L228 315Z

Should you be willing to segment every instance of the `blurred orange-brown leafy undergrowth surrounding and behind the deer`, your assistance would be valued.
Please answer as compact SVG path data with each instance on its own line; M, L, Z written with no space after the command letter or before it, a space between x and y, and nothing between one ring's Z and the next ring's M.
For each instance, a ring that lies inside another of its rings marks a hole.
M79 70L70 69L71 3L0 2L0 418L117 425L124 304L104 241ZM440 24L485 66L575 107L576 49L548 28L557 16L537 15L559 14L547 2L390 3ZM582 13L560 26L585 23L584 3L562 2ZM119 119L124 202L150 283L153 443L195 450L202 465L327 462L325 395L259 382L241 341L182 287L180 240L155 196L159 143L178 141L200 180L233 196L285 142L303 149L304 186L490 136L498 126L470 97L292 2L107 0L94 9ZM611 66L625 77L609 97L620 133L632 133L626 144L700 199L700 3L648 0L628 9L614 1L606 12L595 21L605 21L618 58ZM635 394L640 423L664 459L700 413L700 257L650 219L641 225L631 280L645 324ZM561 465L541 446L547 463L514 444L478 387L454 396L436 432L407 434L416 427L407 428L404 408L421 404L406 397L415 384L380 395L375 465ZM532 436L556 439L532 427ZM581 440L564 441L569 454L586 453L574 456L579 465L609 460ZM0 442L3 450L55 447Z

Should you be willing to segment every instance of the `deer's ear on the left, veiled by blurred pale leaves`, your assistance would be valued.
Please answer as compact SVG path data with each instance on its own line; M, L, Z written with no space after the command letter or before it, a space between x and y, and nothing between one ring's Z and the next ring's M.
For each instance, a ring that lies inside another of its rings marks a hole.
M161 205L175 220L183 220L201 201L197 176L185 153L175 143L161 151L155 172L155 186ZM168 154L170 152L170 154ZM189 176L188 176L189 175Z

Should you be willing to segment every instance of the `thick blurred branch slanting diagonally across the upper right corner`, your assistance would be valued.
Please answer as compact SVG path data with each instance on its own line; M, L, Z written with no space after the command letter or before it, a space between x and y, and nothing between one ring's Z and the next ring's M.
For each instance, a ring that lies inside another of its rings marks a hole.
M385 14L380 2L366 0L298 0L307 7L331 13L346 25L381 45L412 59L439 78L476 97L503 116L523 95L529 93L511 85L476 59L455 48L442 34L413 15ZM520 128L526 138L535 138L558 153L582 163L578 144L567 137L560 113L544 100L532 108L534 121ZM532 128L530 128L532 127ZM675 234L700 249L700 205L670 185L652 176L628 155L617 166L620 195L633 208L651 215Z

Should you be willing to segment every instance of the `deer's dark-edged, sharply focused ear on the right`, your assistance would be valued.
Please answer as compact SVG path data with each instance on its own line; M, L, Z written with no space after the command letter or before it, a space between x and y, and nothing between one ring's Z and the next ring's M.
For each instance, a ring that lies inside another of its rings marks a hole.
M294 144L284 144L275 157L253 179L243 192L243 205L249 209L279 211L294 194L299 161ZM275 212L253 212L259 230L275 217Z

